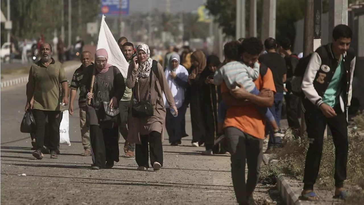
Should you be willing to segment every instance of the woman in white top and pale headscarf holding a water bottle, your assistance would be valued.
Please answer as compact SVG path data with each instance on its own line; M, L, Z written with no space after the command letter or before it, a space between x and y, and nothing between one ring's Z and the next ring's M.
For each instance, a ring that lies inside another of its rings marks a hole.
M172 146L181 144L182 134L185 129L182 126L185 124L183 121L185 120L184 117L187 109L183 102L185 101L188 71L184 66L179 65L179 61L179 55L172 54L169 58L169 66L166 67L166 70L164 71L179 113L177 117L172 115L166 97L164 97L165 106L167 108L166 129L169 136L169 143L171 143Z

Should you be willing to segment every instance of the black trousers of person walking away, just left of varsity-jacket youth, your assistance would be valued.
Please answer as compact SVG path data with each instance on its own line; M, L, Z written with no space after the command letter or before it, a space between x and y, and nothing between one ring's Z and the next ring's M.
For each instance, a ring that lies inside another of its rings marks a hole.
M298 115L301 110L300 109L301 99L300 97L294 94L286 94L284 96L284 99L286 101L286 114L287 114L288 126L290 128L295 129L296 134L299 134L301 130L301 123L300 121L298 121Z

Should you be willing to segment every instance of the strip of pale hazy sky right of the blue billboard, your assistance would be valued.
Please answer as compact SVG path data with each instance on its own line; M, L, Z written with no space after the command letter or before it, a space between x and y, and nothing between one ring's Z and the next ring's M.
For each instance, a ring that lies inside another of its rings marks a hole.
M166 10L166 0L129 0L130 13L133 11L147 12L149 10L149 1L152 8L158 8L160 11ZM185 11L190 12L197 10L199 5L205 3L205 0L170 0L171 12Z

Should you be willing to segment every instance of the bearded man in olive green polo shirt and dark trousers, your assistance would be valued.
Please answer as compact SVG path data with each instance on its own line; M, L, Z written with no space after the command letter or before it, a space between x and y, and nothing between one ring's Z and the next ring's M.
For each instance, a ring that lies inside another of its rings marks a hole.
M33 63L29 71L27 84L27 104L25 110L32 108L36 122L36 150L33 156L43 158L41 150L44 145L46 118L50 128L48 148L51 158L57 158L59 144L59 126L61 110L68 104L68 84L66 73L60 62L52 56L52 46L43 43L40 46L40 61ZM61 87L62 86L62 92Z

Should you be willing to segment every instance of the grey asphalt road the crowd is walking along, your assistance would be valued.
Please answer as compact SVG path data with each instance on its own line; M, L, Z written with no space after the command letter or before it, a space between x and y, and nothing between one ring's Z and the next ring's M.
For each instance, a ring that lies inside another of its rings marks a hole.
M137 171L134 159L122 157L114 169L90 170L91 157L79 156L83 148L75 114L70 116L71 146L61 145L58 159L36 160L29 135L19 131L25 85L0 91L0 98L1 204L236 204L229 155L202 156L204 147L190 147L191 137L178 147L165 139L165 165L158 172ZM191 136L188 117L186 129ZM23 173L27 176L17 176ZM254 193L269 195L277 195L274 186L259 186Z

